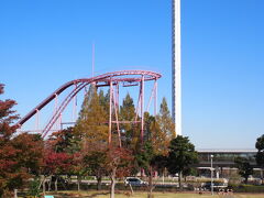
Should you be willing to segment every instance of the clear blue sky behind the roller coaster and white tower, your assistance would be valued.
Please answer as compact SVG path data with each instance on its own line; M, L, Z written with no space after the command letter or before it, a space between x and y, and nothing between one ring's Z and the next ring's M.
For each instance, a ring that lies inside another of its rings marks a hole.
M170 107L170 0L2 0L0 82L21 116L74 78L148 69ZM264 133L264 1L182 0L183 133L254 147Z

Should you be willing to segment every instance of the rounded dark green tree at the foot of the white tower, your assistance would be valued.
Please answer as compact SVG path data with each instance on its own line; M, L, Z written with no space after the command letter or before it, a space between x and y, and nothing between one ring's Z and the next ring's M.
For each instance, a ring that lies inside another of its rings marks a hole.
M187 136L177 135L170 141L167 158L167 168L170 174L178 173L179 187L182 188L182 175L186 176L191 170L191 165L198 162L195 145Z

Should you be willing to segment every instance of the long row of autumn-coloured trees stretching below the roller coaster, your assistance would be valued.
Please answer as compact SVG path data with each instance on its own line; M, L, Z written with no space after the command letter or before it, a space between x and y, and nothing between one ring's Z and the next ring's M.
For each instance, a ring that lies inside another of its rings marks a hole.
M3 94L3 85L0 85L0 94ZM108 176L113 197L117 178L144 174L148 176L151 191L155 170L162 173L167 167L172 174L188 174L190 165L197 162L197 153L187 138L175 139L165 98L156 117L144 112L142 141L140 123L122 122L136 117L133 99L128 94L118 109L119 129L112 124L110 145L109 98L109 92L90 86L76 124L54 132L47 140L38 134L16 134L14 121L19 116L12 110L15 101L0 100L0 195L10 196L13 189L26 187L32 178L41 182L37 189L45 194L51 190L51 179L47 179L51 176L55 178L54 189L57 190L61 175L75 175L78 189L85 176L96 176L98 189L102 177ZM185 155L184 160L179 155Z

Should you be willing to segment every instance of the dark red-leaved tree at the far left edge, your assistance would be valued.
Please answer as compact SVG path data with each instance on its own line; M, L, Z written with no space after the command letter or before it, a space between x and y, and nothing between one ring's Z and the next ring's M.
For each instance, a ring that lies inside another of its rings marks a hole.
M0 95L3 85L0 84ZM34 134L16 134L12 110L14 100L0 100L0 197L9 197L14 188L21 188L28 178L38 174L43 141Z

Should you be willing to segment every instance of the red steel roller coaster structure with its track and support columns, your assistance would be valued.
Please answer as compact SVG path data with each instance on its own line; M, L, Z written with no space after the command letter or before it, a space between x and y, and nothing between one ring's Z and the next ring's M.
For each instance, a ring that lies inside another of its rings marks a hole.
M68 81L55 90L51 96L48 96L45 100L43 100L38 106L36 106L32 111L30 111L24 118L22 118L16 124L22 127L28 120L30 120L33 116L37 116L38 123L38 112L51 101L55 101L54 114L46 124L46 127L42 131L42 136L45 138L46 134L52 130L52 127L56 123L57 120L62 119L62 113L67 105L76 99L76 95L84 88L86 88L89 84L95 84L97 87L109 86L110 88L110 106L109 106L109 143L111 144L111 130L112 123L117 124L118 135L119 135L119 144L121 146L120 139L120 130L119 123L141 123L141 140L143 141L144 135L144 82L148 80L154 80L154 87L152 89L152 95L148 100L147 110L150 107L150 102L154 97L154 113L156 113L156 97L157 97L157 79L161 78L162 75L150 72L150 70L121 70L114 73L107 73L103 75L99 75L91 78L81 78ZM136 117L133 121L119 121L118 112L119 112L119 85L123 84L123 87L129 86L139 86L140 85L140 94L139 101L136 107ZM62 101L61 106L57 107L57 97L64 92L69 87L74 86L74 89L69 91L66 98ZM116 87L116 88L114 88ZM116 120L112 120L112 110L114 111ZM141 111L141 121L138 121L139 111Z

